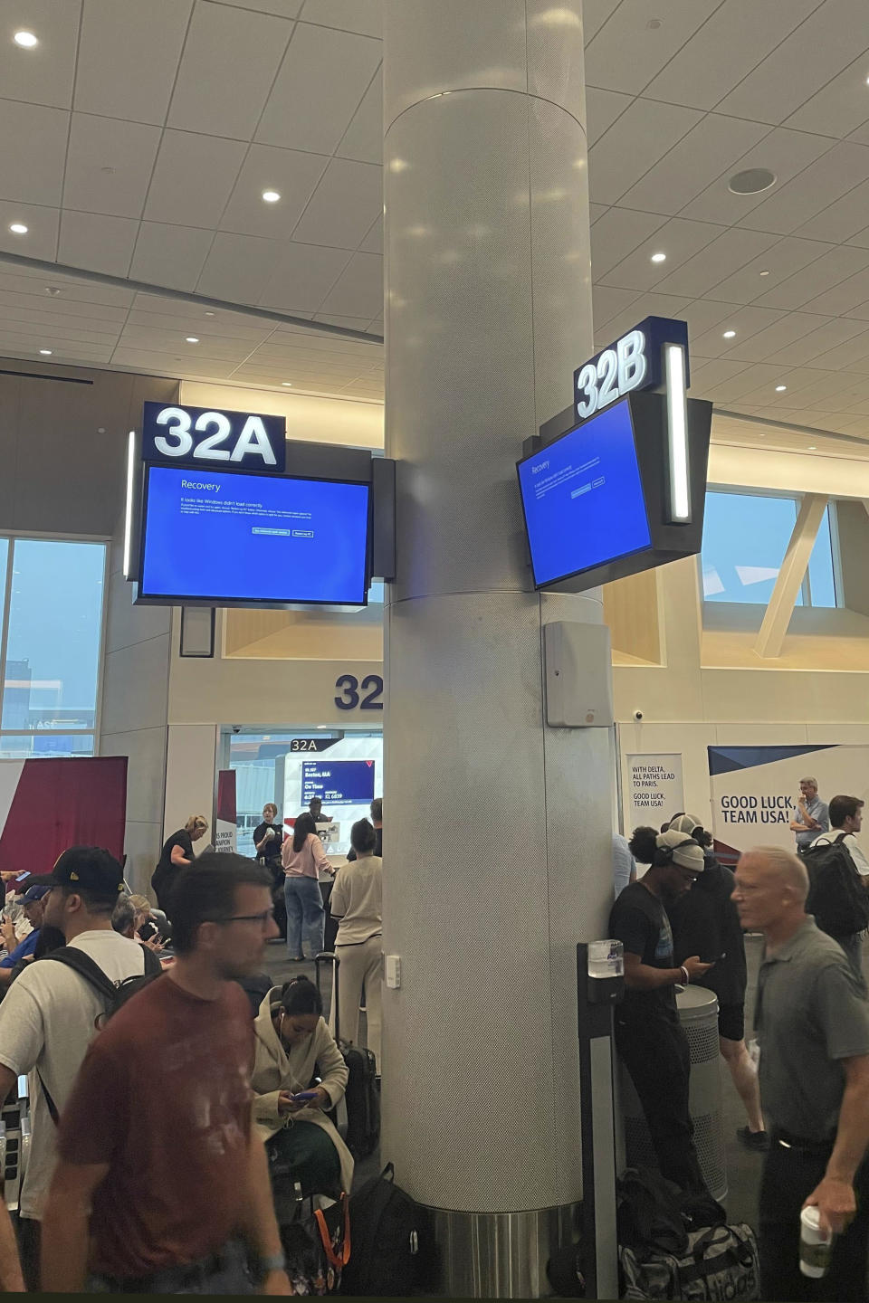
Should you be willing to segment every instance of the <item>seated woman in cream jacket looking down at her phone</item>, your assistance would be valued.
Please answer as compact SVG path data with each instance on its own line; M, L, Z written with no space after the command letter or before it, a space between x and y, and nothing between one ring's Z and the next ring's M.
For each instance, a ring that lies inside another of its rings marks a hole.
M259 1138L280 1134L281 1157L298 1167L305 1194L349 1195L353 1158L323 1111L344 1095L348 1071L314 982L294 977L283 988L272 986L254 1019L254 1033L253 1117ZM314 1098L298 1100L314 1076L321 1078Z

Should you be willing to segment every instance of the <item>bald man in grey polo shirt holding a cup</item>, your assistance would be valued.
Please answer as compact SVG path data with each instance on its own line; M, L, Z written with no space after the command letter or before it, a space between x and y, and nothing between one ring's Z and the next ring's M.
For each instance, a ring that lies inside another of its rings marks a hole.
M869 1005L842 947L805 913L805 865L780 847L747 851L734 900L766 937L754 1025L770 1131L760 1197L765 1300L865 1300L869 1244ZM800 1273L800 1212L836 1233L821 1281Z

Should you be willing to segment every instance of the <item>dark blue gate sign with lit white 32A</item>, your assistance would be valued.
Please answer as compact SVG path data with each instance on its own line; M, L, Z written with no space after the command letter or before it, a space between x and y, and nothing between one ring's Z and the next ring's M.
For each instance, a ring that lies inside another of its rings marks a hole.
M142 457L176 465L280 473L287 461L287 421L283 416L146 403Z

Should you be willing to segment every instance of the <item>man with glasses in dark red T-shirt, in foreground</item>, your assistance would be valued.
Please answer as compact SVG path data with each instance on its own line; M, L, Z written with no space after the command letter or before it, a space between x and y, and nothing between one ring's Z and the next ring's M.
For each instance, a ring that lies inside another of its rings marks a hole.
M206 853L173 886L177 963L87 1052L43 1216L47 1291L289 1294L266 1153L250 1128L254 1035L232 981L278 936L271 876ZM90 1239L90 1260L89 1260Z

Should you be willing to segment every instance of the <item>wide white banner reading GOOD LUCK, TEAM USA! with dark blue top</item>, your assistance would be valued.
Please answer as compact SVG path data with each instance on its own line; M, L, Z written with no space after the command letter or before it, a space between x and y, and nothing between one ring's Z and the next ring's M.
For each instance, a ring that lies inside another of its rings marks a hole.
M753 846L796 848L800 779L816 778L821 800L869 801L869 747L709 747L715 853L735 863Z

